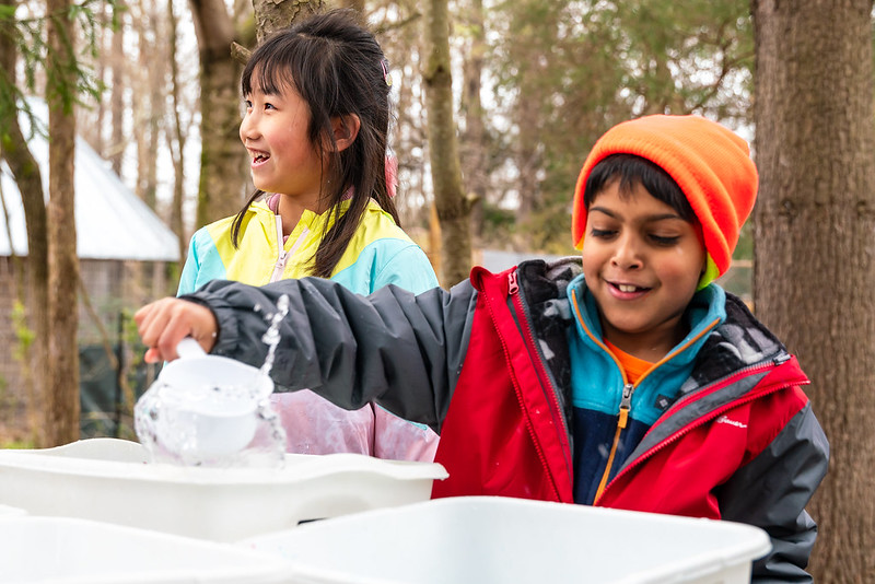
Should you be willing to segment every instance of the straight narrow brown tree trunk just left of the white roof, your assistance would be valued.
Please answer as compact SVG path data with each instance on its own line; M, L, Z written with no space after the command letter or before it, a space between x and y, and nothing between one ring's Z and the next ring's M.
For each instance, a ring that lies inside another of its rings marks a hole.
M68 19L70 0L47 0L51 16L46 40L51 55L46 87L48 102L49 206L49 322L48 386L46 400L47 445L79 440L79 258L75 242L73 159L75 81L70 71L75 63L74 23Z

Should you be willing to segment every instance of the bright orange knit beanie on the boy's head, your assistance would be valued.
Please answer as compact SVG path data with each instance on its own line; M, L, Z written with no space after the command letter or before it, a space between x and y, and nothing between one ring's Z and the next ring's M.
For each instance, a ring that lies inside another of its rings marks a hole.
M593 147L574 189L571 234L583 247L590 172L610 154L635 154L661 166L687 196L702 225L708 267L700 288L730 268L742 225L757 198L758 175L747 142L701 116L645 116L619 124Z

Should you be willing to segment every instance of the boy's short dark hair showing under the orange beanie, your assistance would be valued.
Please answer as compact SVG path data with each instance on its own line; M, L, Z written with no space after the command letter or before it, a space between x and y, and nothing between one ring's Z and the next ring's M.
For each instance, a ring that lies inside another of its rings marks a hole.
M583 189L584 207L588 209L593 199L614 179L620 180L620 194L629 194L640 184L686 221L696 221L690 202L672 175L658 164L635 154L611 154L593 166Z

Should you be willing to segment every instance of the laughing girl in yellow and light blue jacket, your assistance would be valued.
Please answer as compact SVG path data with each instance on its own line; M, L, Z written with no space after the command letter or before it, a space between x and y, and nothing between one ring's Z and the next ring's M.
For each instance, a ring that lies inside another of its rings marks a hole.
M388 63L352 13L316 15L267 39L241 85L240 138L256 190L235 217L194 235L178 294L214 279L258 285L304 276L360 294L436 287L389 196ZM275 405L289 452L431 460L436 447L427 427L374 405L347 411L311 392L278 394Z

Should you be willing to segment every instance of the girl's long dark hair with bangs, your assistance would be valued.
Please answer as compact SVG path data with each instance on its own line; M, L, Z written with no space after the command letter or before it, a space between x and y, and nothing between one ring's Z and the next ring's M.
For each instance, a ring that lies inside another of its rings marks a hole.
M328 161L323 168L327 192L320 197L329 203L335 222L316 250L314 276L331 275L370 199L400 226L386 184L387 73L388 62L376 38L348 9L317 14L276 33L253 51L243 70L243 95L252 93L254 75L264 93L293 87L301 95L310 107L310 141L319 157ZM352 144L337 152L331 118L349 114L359 116L361 128ZM350 187L352 200L341 217L338 203ZM262 195L256 189L234 218L231 241L235 247L246 210Z

